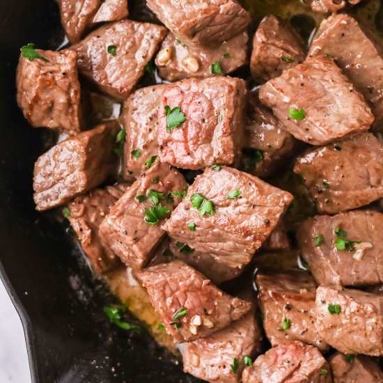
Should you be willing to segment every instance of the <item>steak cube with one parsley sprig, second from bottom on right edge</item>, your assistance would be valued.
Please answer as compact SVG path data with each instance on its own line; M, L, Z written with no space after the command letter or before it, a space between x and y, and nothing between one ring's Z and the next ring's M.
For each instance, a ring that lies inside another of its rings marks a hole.
M345 354L383 355L383 296L338 286L316 294L318 334Z

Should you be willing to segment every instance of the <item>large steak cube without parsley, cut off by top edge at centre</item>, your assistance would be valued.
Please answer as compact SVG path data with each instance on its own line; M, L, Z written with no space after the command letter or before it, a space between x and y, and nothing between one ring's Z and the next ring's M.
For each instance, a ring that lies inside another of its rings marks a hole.
M218 45L247 29L237 0L147 0L148 7L186 45Z

